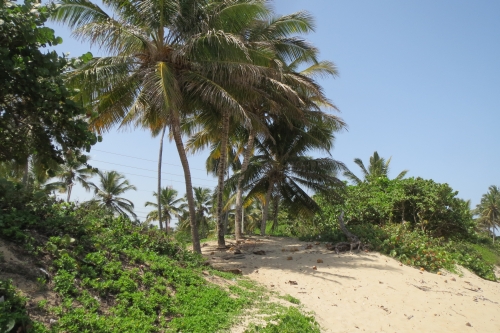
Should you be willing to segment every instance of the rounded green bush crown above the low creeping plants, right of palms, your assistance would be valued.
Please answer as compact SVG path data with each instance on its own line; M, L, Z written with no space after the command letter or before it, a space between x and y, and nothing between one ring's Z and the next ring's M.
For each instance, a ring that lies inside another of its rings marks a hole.
M433 180L378 178L369 183L347 186L339 200L318 195L322 209L312 222L322 233L337 224L341 211L351 224L407 222L412 228L435 237L467 238L475 235L475 223L467 202L448 184ZM334 198L334 197L332 197Z

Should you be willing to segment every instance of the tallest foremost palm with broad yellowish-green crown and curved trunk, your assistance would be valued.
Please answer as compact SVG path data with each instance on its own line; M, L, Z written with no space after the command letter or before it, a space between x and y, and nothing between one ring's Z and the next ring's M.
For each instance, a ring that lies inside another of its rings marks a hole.
M246 117L234 92L258 82L270 61L265 48L249 50L241 32L269 13L266 1L104 0L106 10L89 0L59 4L54 20L110 54L68 75L80 88L76 98L93 108L93 128L168 126L184 169L194 250L201 252L180 122L205 108L224 114L223 128L229 114Z

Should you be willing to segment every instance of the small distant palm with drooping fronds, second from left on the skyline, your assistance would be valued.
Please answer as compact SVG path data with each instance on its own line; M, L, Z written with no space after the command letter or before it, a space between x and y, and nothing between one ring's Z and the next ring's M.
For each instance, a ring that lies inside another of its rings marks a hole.
M120 197L129 190L135 191L136 187L130 185L128 180L116 171L98 171L97 175L99 176L99 186L89 183L94 188L95 195L87 204L97 203L98 206L108 208L119 215L126 217L130 215L136 218L134 203Z

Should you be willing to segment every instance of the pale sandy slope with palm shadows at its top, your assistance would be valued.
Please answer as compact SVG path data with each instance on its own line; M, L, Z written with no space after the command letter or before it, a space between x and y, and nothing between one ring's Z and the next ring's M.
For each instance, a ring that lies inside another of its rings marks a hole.
M500 284L465 269L437 275L376 252L337 255L290 238L248 238L239 248L217 251L210 242L202 250L214 267L241 269L298 298L322 332L500 332ZM265 255L253 254L259 250Z

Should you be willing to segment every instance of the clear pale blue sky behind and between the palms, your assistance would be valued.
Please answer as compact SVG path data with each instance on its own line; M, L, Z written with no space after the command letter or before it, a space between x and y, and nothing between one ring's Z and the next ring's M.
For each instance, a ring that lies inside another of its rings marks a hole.
M279 14L310 12L316 32L306 38L320 49L322 59L338 66L338 78L321 82L349 126L337 135L333 158L360 175L353 159L367 164L378 151L382 157L392 156L392 176L408 169L408 177L448 183L473 207L488 186L500 185L499 1L272 4ZM66 28L52 26L64 39L58 51L78 56L90 50L72 40ZM91 152L93 166L125 173L137 186L126 197L141 217L149 211L144 202L153 200L156 189L158 147L158 139L148 133L129 130L104 135ZM190 158L193 183L214 187L216 182L204 171L206 155ZM182 168L167 140L164 162L163 184L183 195ZM75 198L89 197L75 190Z

